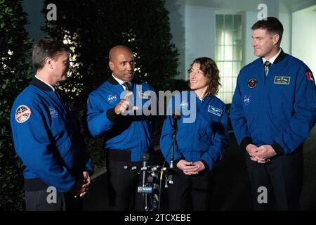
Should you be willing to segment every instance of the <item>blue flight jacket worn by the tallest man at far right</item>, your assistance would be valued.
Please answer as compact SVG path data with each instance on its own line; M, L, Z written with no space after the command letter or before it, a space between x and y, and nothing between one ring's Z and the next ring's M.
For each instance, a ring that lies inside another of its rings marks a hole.
M262 58L240 70L230 117L239 146L270 145L277 155L302 147L315 124L312 72L283 51L265 77Z

